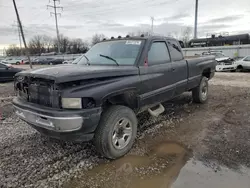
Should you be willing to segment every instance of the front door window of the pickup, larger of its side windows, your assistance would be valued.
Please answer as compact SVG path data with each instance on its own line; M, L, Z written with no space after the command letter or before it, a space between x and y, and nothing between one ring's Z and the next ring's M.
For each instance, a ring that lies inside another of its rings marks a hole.
M154 42L148 52L149 65L170 62L168 48L165 42Z

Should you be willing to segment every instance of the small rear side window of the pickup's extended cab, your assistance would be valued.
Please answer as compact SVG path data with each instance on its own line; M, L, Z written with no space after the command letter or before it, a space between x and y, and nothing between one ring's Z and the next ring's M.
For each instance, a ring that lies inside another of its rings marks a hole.
M168 48L172 61L180 61L184 59L179 42L168 40Z

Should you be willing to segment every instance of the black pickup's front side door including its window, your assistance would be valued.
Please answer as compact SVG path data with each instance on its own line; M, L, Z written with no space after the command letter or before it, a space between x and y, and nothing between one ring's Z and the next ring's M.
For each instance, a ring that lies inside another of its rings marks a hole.
M169 100L175 92L172 62L166 41L153 41L148 49L147 64L140 66L141 106Z

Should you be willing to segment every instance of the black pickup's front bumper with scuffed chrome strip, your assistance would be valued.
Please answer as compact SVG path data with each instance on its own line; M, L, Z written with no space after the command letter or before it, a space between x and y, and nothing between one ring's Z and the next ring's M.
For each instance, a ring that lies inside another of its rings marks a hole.
M39 132L62 140L89 141L98 126L101 108L62 110L31 104L15 98L16 114Z

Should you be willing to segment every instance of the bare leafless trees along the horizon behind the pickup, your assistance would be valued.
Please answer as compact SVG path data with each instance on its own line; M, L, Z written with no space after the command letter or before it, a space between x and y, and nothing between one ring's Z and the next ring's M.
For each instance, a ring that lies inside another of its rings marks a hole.
M180 33L169 34L168 36L182 40L187 47L188 41L191 39L192 29L190 27L185 28ZM130 36L149 36L149 31L137 31L130 32ZM91 41L87 42L80 38L69 38L64 35L60 35L60 52L64 54L79 54L86 53L91 46L107 38L104 34L95 34L92 36ZM36 35L32 37L28 42L28 50L30 55L40 56L43 53L55 53L58 51L57 38L53 38L47 35ZM21 56L25 54L24 48L19 48L16 45L10 45L6 50L8 56Z

